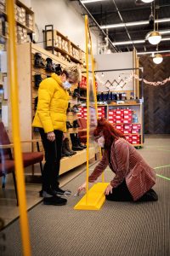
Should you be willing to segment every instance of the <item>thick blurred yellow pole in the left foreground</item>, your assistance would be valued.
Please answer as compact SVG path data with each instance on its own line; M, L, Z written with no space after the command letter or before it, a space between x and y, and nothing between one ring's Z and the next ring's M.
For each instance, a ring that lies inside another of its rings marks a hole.
M20 122L18 106L18 78L17 78L17 58L15 44L15 20L14 20L14 0L7 0L8 15L8 67L10 84L10 101L12 108L12 132L14 140L15 172L17 179L17 191L20 207L20 231L22 237L23 253L31 255L30 237L28 230L28 218L26 213L26 186L24 180L22 154L20 148Z

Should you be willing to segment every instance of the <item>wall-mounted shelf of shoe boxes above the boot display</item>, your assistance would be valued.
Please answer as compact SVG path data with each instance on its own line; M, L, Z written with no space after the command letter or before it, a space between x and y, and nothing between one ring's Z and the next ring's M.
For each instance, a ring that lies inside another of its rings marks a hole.
M52 52L52 33L54 34L54 55L59 56L65 61L83 64L85 54L82 49L57 30L47 32L47 49Z

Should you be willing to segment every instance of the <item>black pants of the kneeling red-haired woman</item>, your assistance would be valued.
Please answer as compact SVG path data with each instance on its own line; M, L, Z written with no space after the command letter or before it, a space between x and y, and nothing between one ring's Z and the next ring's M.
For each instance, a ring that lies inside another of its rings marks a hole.
M116 187L116 189L112 189L112 194L105 195L105 198L109 201L133 201L133 196L130 194L127 183L125 179L123 182ZM158 196L153 189L147 191L138 201L157 201Z

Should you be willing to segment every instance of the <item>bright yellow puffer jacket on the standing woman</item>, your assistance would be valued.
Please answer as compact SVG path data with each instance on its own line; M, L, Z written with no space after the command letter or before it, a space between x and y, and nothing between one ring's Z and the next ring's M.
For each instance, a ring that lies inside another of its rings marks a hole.
M44 79L38 89L38 103L32 126L49 131L66 131L66 110L69 94L55 73Z

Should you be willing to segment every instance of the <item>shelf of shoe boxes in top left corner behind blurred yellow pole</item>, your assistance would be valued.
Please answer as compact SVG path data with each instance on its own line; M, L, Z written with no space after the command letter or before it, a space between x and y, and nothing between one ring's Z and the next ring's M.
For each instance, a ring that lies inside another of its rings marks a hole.
M8 38L8 18L5 0L0 0L0 13L3 14L0 18L0 35L3 38ZM16 41L18 44L24 44L27 42L27 34L32 33L34 30L34 12L24 3L16 0L14 16L16 20Z

